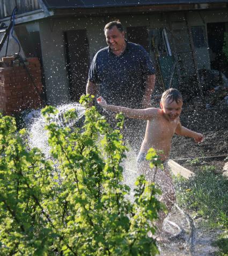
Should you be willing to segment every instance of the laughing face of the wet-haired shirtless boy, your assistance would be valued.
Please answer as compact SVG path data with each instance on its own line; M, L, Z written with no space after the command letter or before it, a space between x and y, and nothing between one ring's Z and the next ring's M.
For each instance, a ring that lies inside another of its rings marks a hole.
M182 110L183 101L179 100L176 103L175 100L165 99L160 101L160 107L163 109L165 118L169 121L174 121L178 116L180 116Z

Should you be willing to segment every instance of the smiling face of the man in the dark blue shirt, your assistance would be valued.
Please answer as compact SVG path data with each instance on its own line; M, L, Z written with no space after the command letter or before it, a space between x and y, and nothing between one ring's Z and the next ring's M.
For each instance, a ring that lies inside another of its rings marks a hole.
M121 50L124 48L124 31L120 32L116 26L113 26L110 30L105 30L105 37L108 46L112 50Z

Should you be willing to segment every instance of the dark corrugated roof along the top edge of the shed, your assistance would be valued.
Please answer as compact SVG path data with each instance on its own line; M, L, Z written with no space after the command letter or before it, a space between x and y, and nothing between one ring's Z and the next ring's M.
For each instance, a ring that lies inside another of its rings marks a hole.
M102 8L114 6L137 6L159 4L227 3L228 0L42 0L48 9Z

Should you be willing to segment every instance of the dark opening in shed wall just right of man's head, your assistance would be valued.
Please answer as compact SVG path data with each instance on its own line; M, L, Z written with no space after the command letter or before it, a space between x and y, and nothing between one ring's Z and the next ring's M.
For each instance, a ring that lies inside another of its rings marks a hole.
M138 43L149 52L148 28L146 26L127 27L127 38L129 42Z

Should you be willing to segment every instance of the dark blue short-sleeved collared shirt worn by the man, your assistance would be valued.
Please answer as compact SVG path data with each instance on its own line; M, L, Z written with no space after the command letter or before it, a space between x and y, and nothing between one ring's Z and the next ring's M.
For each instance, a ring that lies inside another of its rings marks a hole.
M150 55L141 45L127 42L120 56L105 47L95 54L89 80L108 104L140 108L148 75L155 74Z

